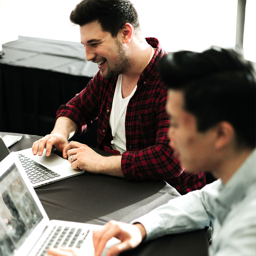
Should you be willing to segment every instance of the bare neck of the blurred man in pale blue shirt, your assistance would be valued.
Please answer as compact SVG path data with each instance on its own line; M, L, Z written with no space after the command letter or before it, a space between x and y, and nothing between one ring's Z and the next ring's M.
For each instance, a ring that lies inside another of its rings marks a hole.
M227 184L231 177L244 164L246 159L252 154L253 149L243 149L235 151L232 154L223 156L219 162L218 168L212 172L216 178L220 178L224 184Z

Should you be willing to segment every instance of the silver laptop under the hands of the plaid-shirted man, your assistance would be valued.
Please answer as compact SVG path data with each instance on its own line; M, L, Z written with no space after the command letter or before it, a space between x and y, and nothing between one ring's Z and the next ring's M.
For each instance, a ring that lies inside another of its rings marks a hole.
M9 149L4 144L0 136L0 161L10 153ZM83 170L75 170L71 168L68 160L52 153L46 156L46 150L42 156L34 156L32 148L27 148L15 152L27 176L34 188L52 183L58 180L63 180L78 174L83 173Z

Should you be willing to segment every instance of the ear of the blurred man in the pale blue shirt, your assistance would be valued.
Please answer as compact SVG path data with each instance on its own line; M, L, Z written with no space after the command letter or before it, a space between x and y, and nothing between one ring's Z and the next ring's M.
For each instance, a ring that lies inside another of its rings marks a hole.
M222 121L216 125L216 142L215 146L218 149L226 147L235 139L234 127L227 121Z

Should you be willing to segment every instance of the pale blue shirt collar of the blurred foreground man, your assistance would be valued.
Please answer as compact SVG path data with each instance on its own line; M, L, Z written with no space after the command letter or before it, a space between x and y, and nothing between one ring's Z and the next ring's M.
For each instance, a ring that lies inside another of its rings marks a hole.
M247 194L252 185L256 184L256 150L246 159L244 164L237 170L225 185L222 183L219 196L216 217L222 225L228 212L236 206Z

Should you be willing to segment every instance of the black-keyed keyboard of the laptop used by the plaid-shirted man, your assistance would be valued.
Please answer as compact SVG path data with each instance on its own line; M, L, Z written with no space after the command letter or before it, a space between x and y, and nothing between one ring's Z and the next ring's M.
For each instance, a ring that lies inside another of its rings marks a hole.
M19 154L19 160L21 161L30 182L33 184L60 176L60 174L36 163L34 160L24 156L23 154Z

